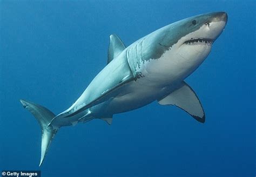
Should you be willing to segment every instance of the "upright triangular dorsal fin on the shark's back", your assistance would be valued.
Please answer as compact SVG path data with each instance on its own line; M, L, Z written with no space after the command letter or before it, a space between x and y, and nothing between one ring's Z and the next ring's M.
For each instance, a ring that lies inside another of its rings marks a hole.
M117 57L123 50L125 45L122 40L115 34L110 35L109 51L107 53L107 64Z

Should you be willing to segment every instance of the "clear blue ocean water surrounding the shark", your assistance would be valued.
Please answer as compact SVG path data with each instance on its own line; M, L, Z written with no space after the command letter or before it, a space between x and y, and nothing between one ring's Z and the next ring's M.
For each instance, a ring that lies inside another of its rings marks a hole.
M0 171L42 176L255 176L255 1L0 1ZM109 36L128 46L179 19L225 11L225 31L186 79L200 124L152 103L60 129L42 167L41 130L19 99L58 114L107 60Z

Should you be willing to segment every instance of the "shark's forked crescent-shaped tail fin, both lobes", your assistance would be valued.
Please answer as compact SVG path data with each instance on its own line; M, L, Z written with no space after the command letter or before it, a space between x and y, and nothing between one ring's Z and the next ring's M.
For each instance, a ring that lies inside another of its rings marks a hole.
M53 127L50 123L55 114L49 111L47 108L21 99L21 104L37 119L42 130L42 144L41 144L41 160L39 167L42 165L45 155L48 152L52 139L58 131L58 127Z

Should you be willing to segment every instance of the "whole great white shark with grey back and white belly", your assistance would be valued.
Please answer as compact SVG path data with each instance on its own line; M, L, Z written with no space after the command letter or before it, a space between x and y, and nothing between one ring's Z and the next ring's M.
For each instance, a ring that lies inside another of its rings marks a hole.
M205 13L164 26L128 47L117 35L111 35L107 65L67 110L55 115L21 99L23 107L41 126L39 166L60 127L92 119L111 124L113 114L135 110L155 100L160 105L175 105L205 122L203 106L184 79L208 56L226 23L225 12Z

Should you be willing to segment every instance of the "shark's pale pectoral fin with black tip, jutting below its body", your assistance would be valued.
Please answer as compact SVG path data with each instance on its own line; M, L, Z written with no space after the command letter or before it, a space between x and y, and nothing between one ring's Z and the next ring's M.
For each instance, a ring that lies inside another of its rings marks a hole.
M190 114L199 122L205 122L205 112L197 94L192 88L183 81L181 86L167 95L163 99L158 100L160 105L174 105Z

